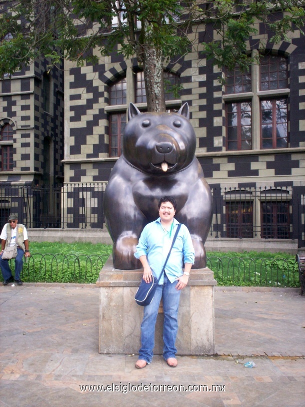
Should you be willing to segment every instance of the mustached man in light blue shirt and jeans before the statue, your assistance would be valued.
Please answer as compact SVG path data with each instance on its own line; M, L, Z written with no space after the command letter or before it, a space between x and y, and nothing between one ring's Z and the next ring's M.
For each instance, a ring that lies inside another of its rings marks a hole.
M134 256L143 266L143 279L148 283L151 274L159 277L175 230L179 222L174 219L176 202L172 197L163 197L158 203L159 218L148 223L139 238ZM182 271L184 262L184 272ZM141 369L150 363L154 347L154 327L159 303L163 300L163 357L171 367L177 365L175 340L178 329L177 315L181 289L188 282L189 272L194 263L194 249L187 227L181 224L171 249L165 272L161 276L154 297L144 306L141 323L141 347L135 367Z

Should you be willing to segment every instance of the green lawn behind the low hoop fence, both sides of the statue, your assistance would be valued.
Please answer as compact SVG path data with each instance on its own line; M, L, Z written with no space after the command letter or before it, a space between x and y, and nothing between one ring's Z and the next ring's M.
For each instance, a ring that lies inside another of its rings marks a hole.
M31 242L30 252L32 257L23 266L23 281L95 283L112 246ZM207 252L207 259L218 285L299 286L295 258L290 254Z

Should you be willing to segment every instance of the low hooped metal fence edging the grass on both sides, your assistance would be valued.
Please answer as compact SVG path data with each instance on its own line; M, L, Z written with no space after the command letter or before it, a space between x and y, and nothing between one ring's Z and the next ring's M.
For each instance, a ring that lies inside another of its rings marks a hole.
M10 260L12 270L14 261ZM98 255L33 253L23 264L25 282L95 283L103 266ZM291 258L217 257L207 258L218 285L299 287L298 266Z

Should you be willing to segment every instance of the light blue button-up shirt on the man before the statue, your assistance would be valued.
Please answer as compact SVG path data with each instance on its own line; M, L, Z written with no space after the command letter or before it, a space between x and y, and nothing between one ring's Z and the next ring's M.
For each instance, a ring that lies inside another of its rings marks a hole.
M137 259L142 255L147 256L149 267L156 278L161 274L178 224L179 222L173 219L172 230L166 231L161 225L160 218L158 218L148 223L141 233L134 256ZM194 248L189 231L181 223L165 266L165 273L169 281L172 283L177 277L180 277L183 274L183 264L194 264L194 259ZM161 276L159 284L163 284L163 276Z

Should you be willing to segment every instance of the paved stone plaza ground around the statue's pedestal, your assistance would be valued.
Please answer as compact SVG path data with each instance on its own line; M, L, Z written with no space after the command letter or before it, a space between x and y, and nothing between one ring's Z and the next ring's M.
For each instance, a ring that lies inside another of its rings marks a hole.
M154 356L138 370L136 355L98 353L94 285L1 286L0 407L304 406L298 292L216 287L216 354L177 356L176 368Z

